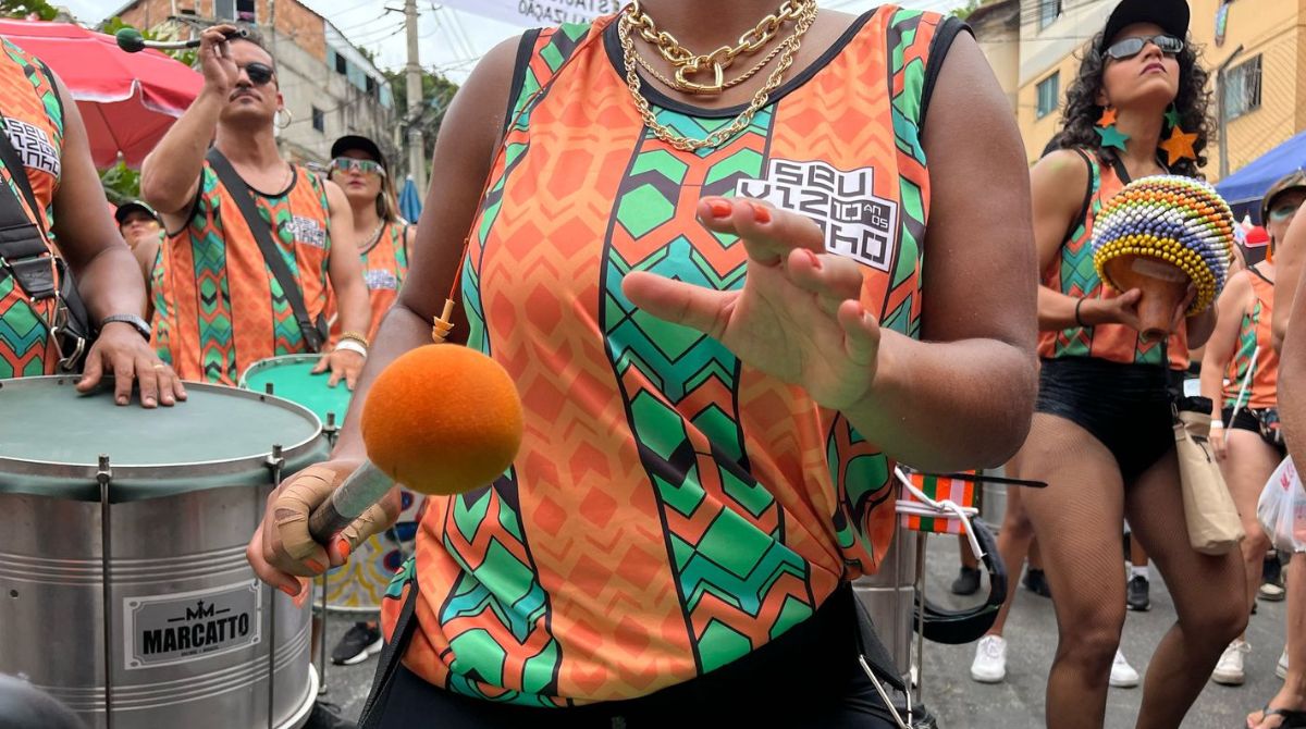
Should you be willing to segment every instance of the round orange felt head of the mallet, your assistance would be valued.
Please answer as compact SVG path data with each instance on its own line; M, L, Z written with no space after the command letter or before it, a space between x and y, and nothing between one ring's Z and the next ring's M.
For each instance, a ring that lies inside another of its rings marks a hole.
M363 402L367 459L404 486L451 495L487 486L521 447L508 372L465 346L426 345L377 375Z

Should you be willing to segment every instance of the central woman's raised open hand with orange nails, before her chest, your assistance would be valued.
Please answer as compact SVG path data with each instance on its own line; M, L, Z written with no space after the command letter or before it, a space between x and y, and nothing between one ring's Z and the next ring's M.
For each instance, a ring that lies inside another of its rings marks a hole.
M803 387L842 410L875 379L879 321L861 302L862 267L825 252L810 218L747 199L705 197L699 219L738 235L748 253L743 289L714 291L646 272L622 284L635 306L721 341L751 367Z

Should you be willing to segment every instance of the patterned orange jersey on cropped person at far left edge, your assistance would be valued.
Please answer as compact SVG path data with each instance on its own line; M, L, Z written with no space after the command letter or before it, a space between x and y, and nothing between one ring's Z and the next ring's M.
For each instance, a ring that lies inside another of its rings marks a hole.
M0 162L0 179L27 217L48 231L63 170L63 102L46 65L5 39L0 39L0 124L24 166L9 170ZM26 175L39 209L30 209L14 182L16 174ZM50 265L54 270L54 260ZM55 320L55 306L54 298L33 300L13 276L0 272L0 379L55 372L59 348L48 327Z

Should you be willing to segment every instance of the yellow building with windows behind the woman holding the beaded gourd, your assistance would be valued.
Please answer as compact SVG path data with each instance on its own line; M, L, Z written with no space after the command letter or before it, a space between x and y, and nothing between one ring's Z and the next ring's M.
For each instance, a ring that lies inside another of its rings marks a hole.
M1016 88L1016 120L1030 163L1057 133L1066 89L1115 4L999 0L976 10L972 25L981 48L1003 88ZM1019 7L1015 30L1011 5ZM1211 73L1212 132L1204 172L1216 182L1306 129L1306 0L1190 0L1190 34ZM1226 71L1217 84L1221 65ZM1225 140L1218 133L1221 103Z

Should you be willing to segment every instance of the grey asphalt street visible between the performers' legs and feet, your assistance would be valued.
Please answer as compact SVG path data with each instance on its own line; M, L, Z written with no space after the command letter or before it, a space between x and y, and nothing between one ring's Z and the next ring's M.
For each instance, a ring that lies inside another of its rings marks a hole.
M931 537L927 549L926 591L931 600L960 606L948 593L957 572L955 537ZM1019 575L1017 570L1011 570ZM1153 568L1152 609L1128 613L1122 647L1124 656L1143 674L1153 648L1174 622L1174 605ZM1045 726L1043 686L1047 668L1057 649L1057 621L1051 602L1024 588L1007 622L1007 681L985 686L970 679L974 645L939 645L926 643L922 688L925 703L939 719L943 729L1024 729ZM987 585L981 593L986 593ZM976 596L976 600L978 596ZM1196 705L1183 722L1185 729L1241 729L1249 711L1264 705L1279 690L1275 664L1284 648L1284 602L1260 602L1252 615L1247 640L1247 683L1225 687L1208 683ZM350 624L349 617L332 615L328 623L326 649L336 644ZM376 658L357 666L328 666L326 694L323 699L338 704L343 715L357 719L371 687ZM1106 726L1134 726L1143 690L1111 688L1107 699ZM1055 725L1055 724L1054 724Z

